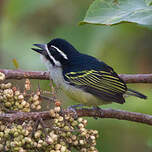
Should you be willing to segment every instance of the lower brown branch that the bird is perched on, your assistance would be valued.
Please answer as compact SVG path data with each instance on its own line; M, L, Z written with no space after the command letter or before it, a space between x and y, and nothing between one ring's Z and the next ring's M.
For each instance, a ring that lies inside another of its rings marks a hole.
M115 110L115 109L76 109L78 117L96 117L96 118L115 118L119 120L128 120L134 122L140 122L147 125L152 125L152 116L148 114L128 112L124 110ZM64 110L63 112L69 112ZM74 113L72 113L74 117ZM14 122L18 120L38 120L42 118L43 120L51 119L49 111L43 112L17 112L11 114L0 114L0 120L6 122Z

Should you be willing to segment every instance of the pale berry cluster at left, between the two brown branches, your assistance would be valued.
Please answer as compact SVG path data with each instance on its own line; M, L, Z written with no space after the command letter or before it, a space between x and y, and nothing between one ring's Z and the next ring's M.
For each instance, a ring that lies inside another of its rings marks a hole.
M26 92L30 87L29 83L27 83L28 79L25 82L23 92L13 87L10 82L1 83L4 80L5 75L0 73L0 111L3 109L4 112L8 110L30 112L31 110L41 109L39 91L35 94L27 94Z

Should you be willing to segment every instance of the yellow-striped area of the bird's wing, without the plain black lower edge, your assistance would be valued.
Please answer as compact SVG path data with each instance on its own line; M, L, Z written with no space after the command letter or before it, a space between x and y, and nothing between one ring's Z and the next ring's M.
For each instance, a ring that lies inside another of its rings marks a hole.
M124 93L126 91L125 84L120 82L118 77L114 77L110 74L111 73L106 71L86 70L67 73L66 77L76 85L87 85L111 95Z

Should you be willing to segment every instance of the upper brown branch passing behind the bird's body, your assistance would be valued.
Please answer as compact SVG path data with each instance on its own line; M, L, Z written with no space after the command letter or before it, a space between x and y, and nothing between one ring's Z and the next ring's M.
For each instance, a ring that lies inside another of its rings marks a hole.
M7 79L40 79L49 80L49 73L46 71L22 71L0 69L6 75ZM126 83L152 83L152 74L120 74Z

